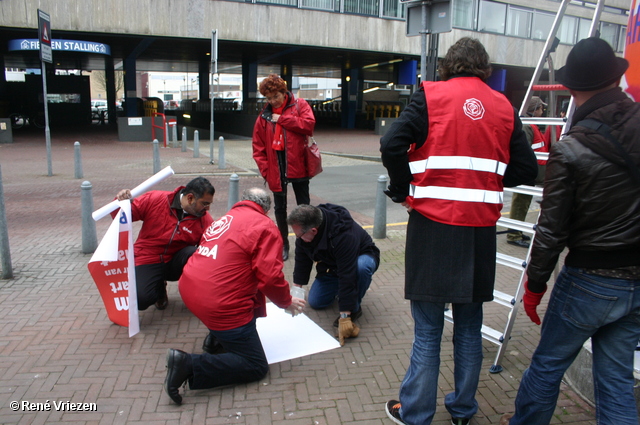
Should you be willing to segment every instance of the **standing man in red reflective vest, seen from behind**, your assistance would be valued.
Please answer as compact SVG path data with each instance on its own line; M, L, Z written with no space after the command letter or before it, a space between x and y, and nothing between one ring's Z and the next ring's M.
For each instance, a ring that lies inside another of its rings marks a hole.
M424 82L380 141L386 193L409 211L405 298L415 338L399 400L385 405L398 424L433 420L445 303L452 303L455 359L445 407L455 425L478 411L482 303L493 299L503 187L538 172L517 111L485 83L484 46L458 40L439 71L444 81Z

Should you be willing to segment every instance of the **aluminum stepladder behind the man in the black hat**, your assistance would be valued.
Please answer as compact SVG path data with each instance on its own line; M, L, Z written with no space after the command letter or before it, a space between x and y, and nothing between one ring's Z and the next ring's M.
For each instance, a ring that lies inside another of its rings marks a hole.
M547 37L547 41L542 50L542 54L540 55L540 59L538 60L538 64L534 71L533 77L529 83L529 87L523 99L522 105L520 107L520 116L523 124L535 124L535 125L561 125L564 126L563 133L566 133L569 129L569 123L571 122L571 116L573 115L574 104L573 98L569 103L569 108L567 111L567 117L563 118L525 118L527 112L527 105L532 97L532 92L534 90L550 90L550 105L554 107L553 110L555 112L555 95L551 90L557 90L558 87L553 84L549 86L540 86L538 85L538 81L540 80L540 76L542 74L542 70L544 69L545 62L549 61L550 65L550 82L553 83L553 68L552 62L550 60L550 53L554 50L554 40L556 38L556 34L558 33L558 28L560 27L560 23L562 21L562 17L565 14L567 6L571 0L562 0L560 4L560 8L556 14L556 17L553 21L553 25L551 26L551 30L549 31L549 36ZM600 15L604 8L604 0L596 1L588 1L589 3L596 3L596 7L593 14L593 19L591 22L591 28L589 31L590 36L596 34L596 30L598 28L598 24L600 22ZM549 158L548 153L536 152L537 159L546 160ZM505 191L511 193L521 193L525 195L533 195L533 196L542 196L542 188L536 186L518 186L514 188L504 188ZM536 218L536 222L537 222ZM485 324L482 325L482 337L494 344L498 345L498 352L496 354L493 365L489 369L491 373L500 373L503 368L500 365L502 357L507 349L507 345L509 339L511 338L511 331L513 329L513 325L515 323L516 316L518 314L518 308L520 306L520 302L522 301L522 296L524 295L524 282L526 281L526 270L527 265L529 264L529 260L531 258L531 247L533 246L533 241L535 239L535 224L529 222L523 222L518 220L512 220L509 218L501 217L496 223L498 227L505 227L507 229L521 231L531 237L531 243L529 244L529 248L527 248L527 253L524 259L519 257L513 257L510 255L502 254L500 252L496 253L496 263L502 266L506 266L512 269L517 270L520 273L520 277L517 282L516 291L514 295L510 295L498 290L493 291L493 302L504 306L508 309L507 318L505 326L502 330L493 329ZM453 322L452 313L450 310L445 311L445 318L449 322Z

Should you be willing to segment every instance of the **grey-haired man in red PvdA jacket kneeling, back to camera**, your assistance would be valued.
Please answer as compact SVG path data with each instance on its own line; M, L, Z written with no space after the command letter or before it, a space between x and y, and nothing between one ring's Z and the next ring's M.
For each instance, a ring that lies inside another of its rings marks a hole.
M231 210L213 223L180 278L182 299L209 329L224 353L167 351L164 388L182 404L178 389L205 389L262 379L269 364L256 329L266 315L265 296L292 314L305 301L292 298L282 273L282 238L267 216L269 194L247 189Z

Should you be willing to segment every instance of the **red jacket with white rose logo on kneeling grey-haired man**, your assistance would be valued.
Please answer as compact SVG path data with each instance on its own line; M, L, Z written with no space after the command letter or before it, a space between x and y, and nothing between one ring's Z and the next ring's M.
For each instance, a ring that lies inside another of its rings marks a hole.
M180 295L208 329L224 331L266 315L265 295L291 305L282 237L262 207L240 201L202 236L180 277Z

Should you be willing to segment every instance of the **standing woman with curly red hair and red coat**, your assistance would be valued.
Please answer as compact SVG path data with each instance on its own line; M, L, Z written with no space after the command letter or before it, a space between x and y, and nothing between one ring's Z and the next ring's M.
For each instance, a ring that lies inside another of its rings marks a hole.
M298 205L310 203L304 150L316 119L307 101L296 99L278 75L270 74L262 80L259 90L267 98L267 105L253 127L253 159L273 192L276 223L284 243L282 259L286 261L289 258L287 184L291 183Z

